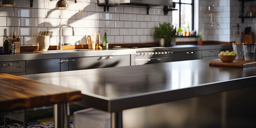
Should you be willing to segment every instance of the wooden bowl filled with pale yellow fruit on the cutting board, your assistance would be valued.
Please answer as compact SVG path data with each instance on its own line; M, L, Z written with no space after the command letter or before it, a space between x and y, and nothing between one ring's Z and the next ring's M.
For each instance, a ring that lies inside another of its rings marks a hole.
M218 56L222 62L233 62L236 59L236 55L234 51L221 51Z

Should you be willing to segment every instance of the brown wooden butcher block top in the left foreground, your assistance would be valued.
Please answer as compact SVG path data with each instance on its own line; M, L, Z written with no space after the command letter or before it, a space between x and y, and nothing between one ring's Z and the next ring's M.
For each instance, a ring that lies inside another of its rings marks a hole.
M0 74L0 111L52 105L81 97L81 91L75 89Z

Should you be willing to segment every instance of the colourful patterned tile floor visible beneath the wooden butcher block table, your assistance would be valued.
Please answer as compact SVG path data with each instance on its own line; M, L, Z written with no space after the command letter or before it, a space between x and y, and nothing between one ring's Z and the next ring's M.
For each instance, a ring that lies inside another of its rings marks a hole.
M73 128L73 116L69 117L69 127ZM0 126L3 128L4 126ZM35 121L29 121L27 128L53 128L53 117L37 119ZM23 123L8 124L6 128L23 128Z

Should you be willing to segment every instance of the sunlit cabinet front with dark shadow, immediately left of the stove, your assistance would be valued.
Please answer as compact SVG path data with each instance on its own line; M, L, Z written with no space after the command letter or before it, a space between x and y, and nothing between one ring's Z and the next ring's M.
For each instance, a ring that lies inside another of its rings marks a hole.
M130 55L115 55L106 57L106 67L131 66Z

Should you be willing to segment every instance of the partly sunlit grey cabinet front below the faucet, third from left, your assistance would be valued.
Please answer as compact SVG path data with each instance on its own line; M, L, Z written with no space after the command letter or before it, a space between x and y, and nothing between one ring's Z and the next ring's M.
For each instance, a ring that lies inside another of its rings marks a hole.
M93 68L104 68L104 57L84 57L84 58L69 58L68 69L69 70L82 70Z

